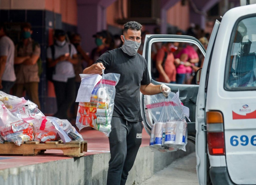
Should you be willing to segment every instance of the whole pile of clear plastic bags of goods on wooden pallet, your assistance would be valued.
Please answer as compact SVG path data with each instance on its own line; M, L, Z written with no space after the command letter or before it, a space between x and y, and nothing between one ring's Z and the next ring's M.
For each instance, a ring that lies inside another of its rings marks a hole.
M0 143L26 141L83 141L68 120L45 116L37 105L0 91Z

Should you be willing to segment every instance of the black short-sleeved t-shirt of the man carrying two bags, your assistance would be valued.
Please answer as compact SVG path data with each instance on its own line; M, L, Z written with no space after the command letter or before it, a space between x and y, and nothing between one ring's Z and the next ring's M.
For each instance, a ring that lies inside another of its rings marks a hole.
M113 116L131 122L142 121L139 92L141 85L150 84L146 60L138 53L129 56L121 48L106 51L95 62L102 62L104 73L118 73L120 79L115 86Z

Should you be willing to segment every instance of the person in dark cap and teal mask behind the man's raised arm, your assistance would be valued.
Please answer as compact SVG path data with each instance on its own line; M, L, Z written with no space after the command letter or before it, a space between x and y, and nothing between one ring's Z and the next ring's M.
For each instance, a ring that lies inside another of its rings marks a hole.
M106 32L97 32L93 35L93 37L95 37L95 44L97 45L97 47L91 50L90 59L93 60L93 62L95 62L99 58L99 56L101 56L106 51L110 50L110 48L106 44Z

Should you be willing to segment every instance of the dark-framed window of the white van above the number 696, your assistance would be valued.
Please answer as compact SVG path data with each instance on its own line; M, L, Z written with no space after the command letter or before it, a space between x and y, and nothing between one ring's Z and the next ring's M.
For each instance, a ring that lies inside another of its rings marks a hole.
M239 21L232 34L226 65L226 90L256 89L256 17Z

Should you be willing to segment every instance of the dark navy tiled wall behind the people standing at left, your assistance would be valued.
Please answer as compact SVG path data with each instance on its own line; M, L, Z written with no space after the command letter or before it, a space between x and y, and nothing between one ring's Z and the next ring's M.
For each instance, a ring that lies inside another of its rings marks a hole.
M45 115L53 115L57 110L56 100L54 97L48 96L48 82L45 74L49 28L63 29L72 33L77 31L77 26L62 23L61 14L48 10L0 10L0 22L8 23L8 25L12 25L14 28L23 22L31 24L33 30L31 37L41 46L41 59L43 63L43 73L40 76L39 83L41 111ZM17 42L15 37L13 40Z

